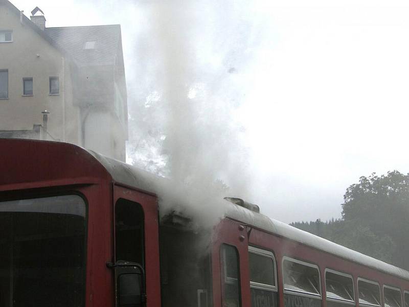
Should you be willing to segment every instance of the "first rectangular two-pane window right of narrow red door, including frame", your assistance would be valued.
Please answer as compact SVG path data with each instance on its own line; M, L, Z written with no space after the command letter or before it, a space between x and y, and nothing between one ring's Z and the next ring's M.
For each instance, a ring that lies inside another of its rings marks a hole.
M277 306L276 261L270 251L248 247L252 307Z

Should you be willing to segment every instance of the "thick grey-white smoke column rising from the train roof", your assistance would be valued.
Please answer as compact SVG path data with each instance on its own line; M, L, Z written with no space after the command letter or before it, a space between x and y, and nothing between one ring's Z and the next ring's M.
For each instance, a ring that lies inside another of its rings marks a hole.
M158 172L170 179L158 191L162 215L175 210L213 225L224 213L220 200L246 198L251 180L235 115L254 39L246 4L156 1L145 9L151 26L141 56L155 76L145 107L155 108L149 133L166 158Z

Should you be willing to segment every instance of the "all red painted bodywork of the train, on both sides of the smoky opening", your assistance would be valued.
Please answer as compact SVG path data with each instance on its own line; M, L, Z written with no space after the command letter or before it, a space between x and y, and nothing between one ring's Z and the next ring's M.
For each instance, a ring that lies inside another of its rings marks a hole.
M98 160L85 150L71 144L35 140L0 139L0 197L43 197L51 193L81 193L87 200L88 237L86 258L86 307L112 306L113 270L106 262L114 257L113 205L125 198L142 205L145 215L145 258L148 306L159 307L160 266L158 246L157 199L137 191L137 187L121 186ZM213 306L222 306L223 281L220 270L220 246L237 248L240 264L242 307L251 305L248 267L248 245L275 254L278 273L279 306L284 306L282 258L289 256L316 264L320 268L321 288L325 289L325 269L409 290L409 281L381 273L375 269L347 261L336 255L290 241L240 221L222 220L215 228L212 246ZM355 298L358 297L355 287ZM322 305L326 307L325 291ZM381 291L383 302L383 293ZM358 300L356 299L358 307Z

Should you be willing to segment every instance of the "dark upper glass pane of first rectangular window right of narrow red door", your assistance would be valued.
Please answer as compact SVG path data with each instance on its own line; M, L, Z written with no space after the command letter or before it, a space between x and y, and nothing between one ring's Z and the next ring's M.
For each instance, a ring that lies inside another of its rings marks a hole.
M259 284L275 286L275 270L272 257L249 251L250 280Z

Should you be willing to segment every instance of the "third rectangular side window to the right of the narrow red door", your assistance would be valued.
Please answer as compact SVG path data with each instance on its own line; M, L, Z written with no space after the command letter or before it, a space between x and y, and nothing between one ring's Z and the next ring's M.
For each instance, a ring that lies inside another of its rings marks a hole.
M325 290L327 305L335 305L336 303L354 304L354 281L351 275L326 269Z

